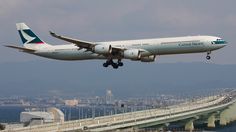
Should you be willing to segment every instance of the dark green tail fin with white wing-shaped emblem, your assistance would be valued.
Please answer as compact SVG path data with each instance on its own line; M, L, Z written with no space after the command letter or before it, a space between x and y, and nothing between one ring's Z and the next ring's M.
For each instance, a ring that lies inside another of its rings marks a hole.
M16 28L20 34L21 40L27 44L45 44L38 36L36 36L25 23L17 23Z

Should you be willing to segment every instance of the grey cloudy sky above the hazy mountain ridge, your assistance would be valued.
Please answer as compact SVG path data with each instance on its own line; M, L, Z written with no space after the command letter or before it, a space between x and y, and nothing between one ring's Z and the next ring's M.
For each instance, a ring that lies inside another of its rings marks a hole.
M1 0L0 44L21 44L15 23L25 22L50 44L52 30L87 41L110 41L188 35L220 36L228 46L212 53L212 63L235 64L234 0ZM166 62L204 62L206 54L158 57ZM0 63L45 60L0 48Z

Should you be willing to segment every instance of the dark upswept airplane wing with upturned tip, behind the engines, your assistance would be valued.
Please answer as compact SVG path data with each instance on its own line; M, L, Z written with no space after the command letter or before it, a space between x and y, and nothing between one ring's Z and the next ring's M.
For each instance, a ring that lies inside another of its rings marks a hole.
M87 41L82 41L82 40L79 40L79 39L73 39L73 38L65 37L65 36L58 35L58 34L56 34L54 32L51 32L51 31L50 31L50 34L55 38L73 43L76 46L78 46L80 48L85 48L87 50L92 50L92 48L96 45L94 42L87 42Z

